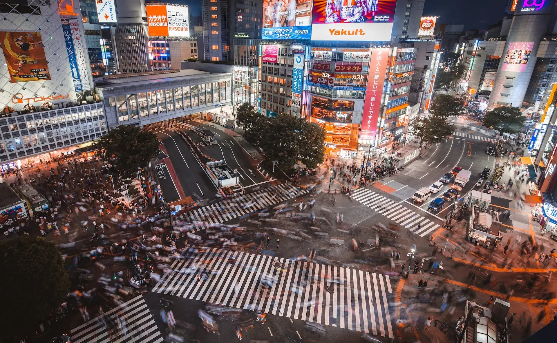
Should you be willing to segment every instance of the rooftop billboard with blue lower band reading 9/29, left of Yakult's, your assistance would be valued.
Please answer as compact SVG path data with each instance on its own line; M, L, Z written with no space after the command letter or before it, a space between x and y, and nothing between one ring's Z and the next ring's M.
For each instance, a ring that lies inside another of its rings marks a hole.
M263 0L263 39L310 39L312 0Z

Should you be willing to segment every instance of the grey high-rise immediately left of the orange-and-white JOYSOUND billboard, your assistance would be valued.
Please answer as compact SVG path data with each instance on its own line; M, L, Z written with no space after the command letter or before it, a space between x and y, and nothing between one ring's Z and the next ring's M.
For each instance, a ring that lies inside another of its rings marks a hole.
M144 0L115 0L118 9L116 51L120 72L135 73L151 70L149 33Z

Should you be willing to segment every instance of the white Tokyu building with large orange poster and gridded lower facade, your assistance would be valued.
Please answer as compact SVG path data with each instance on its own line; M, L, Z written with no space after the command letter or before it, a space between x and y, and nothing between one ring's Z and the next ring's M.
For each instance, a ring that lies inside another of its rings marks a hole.
M106 133L104 107L91 93L79 2L0 6L0 168L36 163Z

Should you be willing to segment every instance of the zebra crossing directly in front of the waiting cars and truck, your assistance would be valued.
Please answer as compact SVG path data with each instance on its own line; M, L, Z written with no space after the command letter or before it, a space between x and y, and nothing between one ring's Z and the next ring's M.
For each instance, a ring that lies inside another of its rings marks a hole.
M395 201L364 187L352 191L350 197L372 208L375 212L382 214L399 225L404 226L420 237L428 235L428 233L431 233L441 226L411 209L399 205Z

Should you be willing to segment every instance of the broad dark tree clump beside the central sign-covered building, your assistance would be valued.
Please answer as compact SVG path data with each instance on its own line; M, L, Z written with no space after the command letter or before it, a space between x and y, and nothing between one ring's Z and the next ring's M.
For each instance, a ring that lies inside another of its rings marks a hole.
M289 170L298 161L309 168L323 162L325 131L319 125L286 113L268 118L245 105L241 105L241 125L246 130L244 137L260 147L268 160L277 161L284 170ZM239 111L236 116L239 118Z

